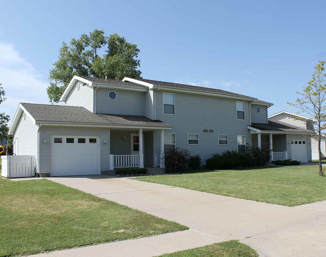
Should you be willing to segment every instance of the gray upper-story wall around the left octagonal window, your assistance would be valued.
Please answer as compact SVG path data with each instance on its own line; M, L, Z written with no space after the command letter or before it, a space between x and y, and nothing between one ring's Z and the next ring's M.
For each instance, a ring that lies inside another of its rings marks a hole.
M117 94L115 100L108 96L111 90ZM96 113L143 116L144 92L97 88Z

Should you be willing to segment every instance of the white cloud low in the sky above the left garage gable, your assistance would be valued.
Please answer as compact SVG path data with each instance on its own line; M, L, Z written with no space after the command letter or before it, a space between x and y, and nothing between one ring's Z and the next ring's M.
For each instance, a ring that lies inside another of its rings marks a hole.
M21 57L12 44L0 42L0 83L7 100L0 105L1 112L12 119L20 102L49 104L47 81L38 78L33 65ZM9 121L9 124L11 121Z

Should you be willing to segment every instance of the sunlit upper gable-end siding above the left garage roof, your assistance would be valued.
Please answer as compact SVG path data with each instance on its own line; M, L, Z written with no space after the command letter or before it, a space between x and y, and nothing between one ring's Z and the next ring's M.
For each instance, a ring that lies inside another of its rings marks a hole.
M79 90L77 88L78 84ZM83 86L83 83L77 82L67 96L66 105L85 107L87 110L93 112L93 96L93 88Z

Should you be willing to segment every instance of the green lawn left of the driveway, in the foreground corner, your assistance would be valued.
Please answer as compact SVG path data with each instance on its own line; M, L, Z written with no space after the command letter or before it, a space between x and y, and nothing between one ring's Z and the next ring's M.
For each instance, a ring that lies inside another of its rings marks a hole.
M0 179L0 256L185 230L178 223L42 180Z

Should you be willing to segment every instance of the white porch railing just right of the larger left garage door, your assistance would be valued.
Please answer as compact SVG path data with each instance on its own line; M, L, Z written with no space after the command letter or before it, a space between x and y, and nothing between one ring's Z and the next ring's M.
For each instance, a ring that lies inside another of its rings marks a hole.
M143 154L140 155L110 155L110 169L144 168Z

